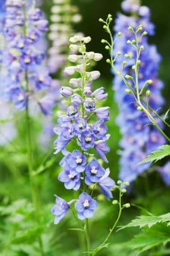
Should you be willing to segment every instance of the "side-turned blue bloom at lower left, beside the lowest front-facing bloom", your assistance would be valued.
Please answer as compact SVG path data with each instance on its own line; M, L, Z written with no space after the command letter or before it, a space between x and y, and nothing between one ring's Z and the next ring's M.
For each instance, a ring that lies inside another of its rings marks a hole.
M61 221L61 219L63 219L67 214L70 205L61 197L58 196L56 196L55 202L56 204L55 206L53 206L51 212L53 215L55 215L54 224L58 224Z

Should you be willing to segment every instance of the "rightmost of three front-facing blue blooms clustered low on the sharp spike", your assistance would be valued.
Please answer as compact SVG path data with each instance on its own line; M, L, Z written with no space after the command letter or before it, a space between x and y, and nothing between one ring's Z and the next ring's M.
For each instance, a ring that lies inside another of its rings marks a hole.
M91 160L90 164L87 165L85 174L85 183L91 185L100 181L100 178L105 174L105 169L94 158Z

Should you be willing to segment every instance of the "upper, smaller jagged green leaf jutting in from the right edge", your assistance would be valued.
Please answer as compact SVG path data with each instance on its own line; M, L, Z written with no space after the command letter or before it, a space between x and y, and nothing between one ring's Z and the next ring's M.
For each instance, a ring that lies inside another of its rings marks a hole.
M145 158L143 161L139 162L139 164L144 164L145 162L157 162L161 160L162 158L165 158L166 156L170 156L170 146L169 145L163 145L159 147L160 150L154 151L149 155L147 158Z

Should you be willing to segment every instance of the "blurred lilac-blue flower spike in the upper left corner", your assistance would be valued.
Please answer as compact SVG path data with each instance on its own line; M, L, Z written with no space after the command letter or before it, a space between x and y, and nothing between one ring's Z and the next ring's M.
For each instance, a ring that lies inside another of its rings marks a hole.
M13 101L19 110L25 109L29 97L40 105L46 115L55 101L50 100L47 104L47 97L44 98L52 83L44 66L46 47L42 43L48 22L40 9L34 6L34 1L7 0L5 7L7 47L2 56L4 83L1 97Z

